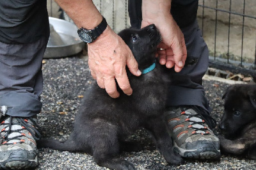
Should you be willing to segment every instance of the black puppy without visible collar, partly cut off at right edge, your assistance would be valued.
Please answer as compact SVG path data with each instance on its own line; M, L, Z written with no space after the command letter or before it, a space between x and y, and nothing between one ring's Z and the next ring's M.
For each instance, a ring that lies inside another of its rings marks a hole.
M223 98L221 150L256 159L256 85L230 86Z

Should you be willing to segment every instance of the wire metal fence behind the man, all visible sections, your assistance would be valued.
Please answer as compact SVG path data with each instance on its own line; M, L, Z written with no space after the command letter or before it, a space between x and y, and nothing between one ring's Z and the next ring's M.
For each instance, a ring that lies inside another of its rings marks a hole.
M114 31L129 27L128 0L93 0ZM47 0L49 15L58 5ZM209 66L256 79L256 1L199 0L198 24L209 47Z

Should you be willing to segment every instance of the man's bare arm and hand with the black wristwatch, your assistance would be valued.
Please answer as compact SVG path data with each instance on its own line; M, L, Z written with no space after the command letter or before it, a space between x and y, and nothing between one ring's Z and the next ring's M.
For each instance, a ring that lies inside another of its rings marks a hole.
M56 0L56 3L79 28L93 29L102 21L102 15L92 0ZM120 95L116 90L115 79L125 94L132 94L125 65L132 74L141 75L131 50L109 26L95 42L88 43L88 65L100 88L105 88L113 98Z

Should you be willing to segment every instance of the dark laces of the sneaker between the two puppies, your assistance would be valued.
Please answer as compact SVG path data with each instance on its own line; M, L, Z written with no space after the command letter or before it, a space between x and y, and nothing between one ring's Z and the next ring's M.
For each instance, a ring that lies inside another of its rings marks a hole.
M187 109L193 109L196 112L196 114L188 114L188 112L186 112ZM202 132L201 134L205 134L205 135L209 134L209 132L207 131L208 128L204 126L205 123L212 130L214 129L214 127L216 127L216 120L214 120L214 118L212 118L207 111L205 111L204 109L201 109L198 106L193 105L193 106L187 107L186 109L184 109L184 111L181 112L181 114L188 116L186 121L189 121L191 123L189 127L193 127L194 129L194 132L192 134L196 134L198 132ZM199 118L202 121L195 121L191 118ZM199 125L199 126L193 126L193 125Z

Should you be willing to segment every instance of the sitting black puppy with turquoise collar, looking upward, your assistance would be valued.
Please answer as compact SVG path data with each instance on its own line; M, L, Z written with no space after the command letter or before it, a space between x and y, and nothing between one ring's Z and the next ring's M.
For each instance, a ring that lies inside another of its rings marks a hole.
M118 89L120 97L114 99L94 84L84 95L74 131L67 141L60 143L43 139L39 146L84 151L93 155L99 166L110 169L136 169L131 162L117 155L122 150L138 148L125 139L144 127L154 137L165 160L170 164L181 164L183 160L173 152L172 139L162 118L167 84L163 81L163 67L156 63L155 58L157 45L161 41L159 31L152 24L143 29L124 29L119 35L132 50L140 70L145 72L136 77L127 69L132 95L127 96Z

